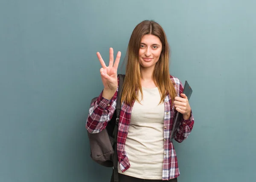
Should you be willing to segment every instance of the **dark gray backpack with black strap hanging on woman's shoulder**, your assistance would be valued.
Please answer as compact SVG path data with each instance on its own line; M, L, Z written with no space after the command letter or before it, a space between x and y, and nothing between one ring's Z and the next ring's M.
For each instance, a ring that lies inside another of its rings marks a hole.
M93 161L105 167L113 167L114 182L118 182L117 171L117 133L119 115L121 110L121 95L122 86L125 75L118 74L119 77L119 91L117 94L116 110L113 113L111 120L108 122L105 129L96 134L91 134L87 131L89 143L90 143L90 157ZM91 104L97 100L97 97L91 100Z

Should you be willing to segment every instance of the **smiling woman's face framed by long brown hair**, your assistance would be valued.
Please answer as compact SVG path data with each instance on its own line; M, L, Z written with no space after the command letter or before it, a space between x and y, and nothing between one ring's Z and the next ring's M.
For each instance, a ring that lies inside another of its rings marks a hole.
M160 39L152 34L142 37L139 51L139 62L143 68L154 68L162 51Z

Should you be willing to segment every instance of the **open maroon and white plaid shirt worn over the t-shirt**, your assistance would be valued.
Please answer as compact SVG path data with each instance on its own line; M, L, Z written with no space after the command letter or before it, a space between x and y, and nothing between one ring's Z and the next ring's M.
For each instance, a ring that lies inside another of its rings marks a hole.
M180 94L183 92L182 83L176 77L170 76L170 79L172 80L172 82L175 83L175 89L176 89L176 92L178 93L177 95L180 96ZM90 105L89 114L86 121L86 129L90 133L99 133L106 127L107 122L111 119L116 109L117 93L118 93L118 88L111 100L107 100L103 98L101 93L97 98L97 100ZM164 99L164 105L165 105L165 114L164 114L164 123L163 123L164 159L163 159L162 180L173 179L180 175L176 152L172 142L169 141L174 118L177 114L177 111L174 109L174 106L172 106L171 108L171 103L172 103L171 97L167 95ZM125 152L125 140L128 134L128 128L131 121L132 106L122 103L120 117L119 117L118 136L117 136L117 155L118 155L119 165L122 172L126 171L130 167L129 159ZM194 125L194 117L192 113L191 113L191 117L187 120L184 120L183 117L181 117L180 125L177 129L177 133L174 139L177 142L182 142L184 139L186 139L189 136L193 128L193 125Z

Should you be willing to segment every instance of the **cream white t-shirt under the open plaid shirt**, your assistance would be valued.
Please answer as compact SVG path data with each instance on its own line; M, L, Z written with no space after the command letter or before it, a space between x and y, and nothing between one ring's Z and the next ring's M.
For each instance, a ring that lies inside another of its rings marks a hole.
M141 98L140 92L139 98ZM135 101L125 151L131 167L122 173L141 179L162 179L164 103L158 88L143 88L143 100Z

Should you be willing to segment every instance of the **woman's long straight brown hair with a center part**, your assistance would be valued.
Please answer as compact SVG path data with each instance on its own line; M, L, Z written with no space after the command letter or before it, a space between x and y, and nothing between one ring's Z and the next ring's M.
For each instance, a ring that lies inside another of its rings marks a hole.
M151 20L144 20L139 23L131 34L126 54L127 65L121 102L124 101L127 105L132 105L134 100L140 102L138 95L136 94L136 91L143 93L140 82L141 73L139 63L139 50L142 37L146 34L157 36L162 43L160 58L157 61L153 72L154 82L157 85L161 95L160 103L164 102L164 98L167 94L169 94L173 104L174 98L176 96L176 90L174 83L172 83L170 80L169 74L169 44L163 28L158 23Z

